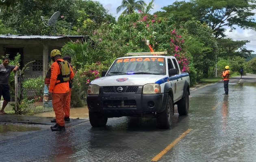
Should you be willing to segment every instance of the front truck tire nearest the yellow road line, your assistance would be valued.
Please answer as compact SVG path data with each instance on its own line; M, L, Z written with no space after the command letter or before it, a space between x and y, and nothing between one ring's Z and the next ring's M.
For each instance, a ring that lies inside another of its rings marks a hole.
M165 110L161 113L156 113L156 119L158 122L158 126L160 128L167 129L171 127L171 122L173 118L173 109L174 109L174 105L172 103L171 97L168 96Z

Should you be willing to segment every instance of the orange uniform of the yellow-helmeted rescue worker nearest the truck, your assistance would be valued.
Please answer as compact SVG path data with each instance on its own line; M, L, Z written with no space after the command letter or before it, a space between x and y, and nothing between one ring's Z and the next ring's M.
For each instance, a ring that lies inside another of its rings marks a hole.
M59 61L64 61L63 59L58 59ZM70 79L73 79L74 73L70 67ZM49 92L52 93L52 105L56 116L56 123L59 126L65 126L64 121L64 107L66 104L67 96L69 94L69 82L59 83L57 80L58 75L61 73L61 69L57 60L51 66L51 79ZM56 84L59 83L59 84Z

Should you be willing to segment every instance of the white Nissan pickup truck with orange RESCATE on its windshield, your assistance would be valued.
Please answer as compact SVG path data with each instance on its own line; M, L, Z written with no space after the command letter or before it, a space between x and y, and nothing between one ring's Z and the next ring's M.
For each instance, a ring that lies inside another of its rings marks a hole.
M106 126L111 117L156 118L170 128L174 105L179 115L189 112L190 80L167 52L127 53L117 58L102 77L91 81L87 107L91 126Z

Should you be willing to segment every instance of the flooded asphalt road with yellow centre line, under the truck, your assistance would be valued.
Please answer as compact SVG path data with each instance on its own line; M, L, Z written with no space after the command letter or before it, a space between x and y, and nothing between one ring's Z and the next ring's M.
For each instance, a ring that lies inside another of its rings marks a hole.
M43 130L0 142L1 160L254 162L256 75L243 77L230 79L228 96L221 82L193 90L189 114L179 116L175 107L171 129L159 129L149 118L109 118L100 128L84 122L66 132Z

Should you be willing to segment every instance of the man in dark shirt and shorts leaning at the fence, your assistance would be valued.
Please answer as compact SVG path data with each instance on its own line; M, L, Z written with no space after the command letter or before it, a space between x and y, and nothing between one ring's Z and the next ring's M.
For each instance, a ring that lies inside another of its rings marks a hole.
M19 68L19 66L13 66L9 65L10 59L7 57L3 58L3 63L0 64L0 98L4 98L3 106L0 111L1 114L6 114L4 112L4 108L8 104L8 102L11 101L11 95L10 95L10 86L9 86L9 79L11 72L16 72Z

